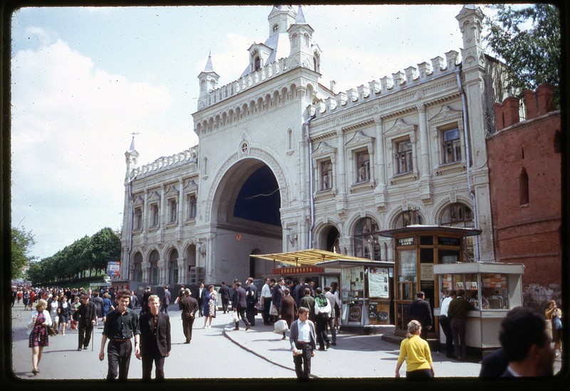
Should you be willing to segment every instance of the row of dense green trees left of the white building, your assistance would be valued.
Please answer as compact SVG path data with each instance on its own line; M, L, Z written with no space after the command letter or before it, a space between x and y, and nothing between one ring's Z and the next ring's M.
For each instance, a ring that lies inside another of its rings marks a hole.
M48 258L31 264L28 279L34 284L73 281L103 273L107 262L120 258L120 236L103 228L93 236L83 236Z

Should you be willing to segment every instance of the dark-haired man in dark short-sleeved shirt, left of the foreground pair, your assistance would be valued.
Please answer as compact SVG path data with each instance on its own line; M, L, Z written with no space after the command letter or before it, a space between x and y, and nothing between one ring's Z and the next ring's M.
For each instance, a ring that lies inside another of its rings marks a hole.
M131 338L135 337L135 355L140 355L140 327L139 319L135 311L128 308L130 302L130 292L120 291L117 294L118 307L107 314L107 320L103 327L103 338L101 338L101 350L99 360L105 358L105 343L109 340L107 347L107 358L109 369L107 380L115 380L117 375L119 380L127 380L130 364L130 355L133 353Z

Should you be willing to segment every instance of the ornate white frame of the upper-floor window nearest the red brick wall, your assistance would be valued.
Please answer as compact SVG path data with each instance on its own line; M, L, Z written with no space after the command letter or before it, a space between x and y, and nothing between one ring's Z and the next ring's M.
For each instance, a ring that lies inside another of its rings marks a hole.
M463 126L463 112L455 110L450 105L442 105L440 112L428 120L430 135L434 139L434 156L437 157L435 175L455 174L467 170L467 153L465 148L465 127ZM461 160L445 163L443 159L443 132L459 129Z

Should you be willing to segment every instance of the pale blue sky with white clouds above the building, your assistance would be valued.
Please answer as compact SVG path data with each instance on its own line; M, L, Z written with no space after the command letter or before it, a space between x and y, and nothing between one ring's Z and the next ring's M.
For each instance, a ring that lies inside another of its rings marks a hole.
M11 226L43 259L120 230L125 152L138 165L197 145L197 76L219 86L269 36L271 6L19 9L11 24ZM296 8L296 6L295 6ZM336 91L460 52L462 5L303 6ZM485 11L484 6L482 6Z

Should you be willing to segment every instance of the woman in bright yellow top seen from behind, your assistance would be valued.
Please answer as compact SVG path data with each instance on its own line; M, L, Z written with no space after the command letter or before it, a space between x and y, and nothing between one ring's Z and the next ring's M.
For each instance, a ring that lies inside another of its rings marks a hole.
M408 334L400 343L400 355L396 364L396 377L400 377L400 367L405 360L405 377L418 379L433 377L432 353L427 341L420 338L422 325L418 320L408 323Z

